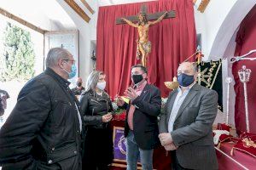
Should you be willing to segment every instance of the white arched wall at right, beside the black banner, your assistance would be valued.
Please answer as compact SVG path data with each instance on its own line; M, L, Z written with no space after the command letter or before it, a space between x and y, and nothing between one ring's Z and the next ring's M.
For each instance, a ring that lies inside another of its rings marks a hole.
M205 13L196 11L195 26L197 33L201 33L203 60L223 59L223 101L224 113L227 110L227 83L226 77L232 77L232 65L230 57L234 55L236 48L236 31L241 21L255 5L256 0L213 0ZM226 59L225 59L226 58ZM234 80L230 84L230 124L235 127L235 99ZM218 113L216 122L223 122L223 114Z

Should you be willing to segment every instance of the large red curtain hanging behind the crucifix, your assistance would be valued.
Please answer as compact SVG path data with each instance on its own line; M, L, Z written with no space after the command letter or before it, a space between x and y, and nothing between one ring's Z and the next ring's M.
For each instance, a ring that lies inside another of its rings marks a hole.
M148 81L170 92L164 85L177 75L177 66L195 52L196 34L192 0L162 0L100 7L97 20L96 69L107 74L107 91L111 97L123 95L131 85L131 65L136 58L137 28L116 25L117 18L137 15L143 4L148 13L175 10L176 18L165 19L151 26L148 37L152 51L148 56Z

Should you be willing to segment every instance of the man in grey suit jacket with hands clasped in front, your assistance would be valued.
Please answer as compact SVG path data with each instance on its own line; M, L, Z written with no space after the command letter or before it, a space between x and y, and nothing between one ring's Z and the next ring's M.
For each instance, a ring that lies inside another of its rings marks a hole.
M218 111L218 94L198 85L197 69L183 62L177 69L179 88L169 95L160 116L160 142L172 150L172 169L218 169L212 123Z

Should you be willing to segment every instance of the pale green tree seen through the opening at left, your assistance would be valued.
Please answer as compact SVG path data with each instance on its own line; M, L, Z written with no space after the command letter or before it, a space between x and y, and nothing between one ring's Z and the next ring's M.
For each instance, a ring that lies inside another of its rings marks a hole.
M35 74L35 53L30 32L7 23L0 59L0 80L26 81Z

